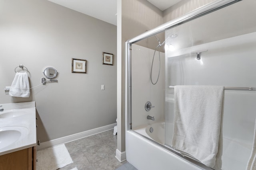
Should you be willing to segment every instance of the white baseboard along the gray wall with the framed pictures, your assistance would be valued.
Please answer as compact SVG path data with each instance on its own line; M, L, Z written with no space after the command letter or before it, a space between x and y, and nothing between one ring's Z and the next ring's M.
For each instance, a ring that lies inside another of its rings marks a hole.
M95 135L97 133L102 133L104 131L108 131L110 129L114 129L114 126L116 126L116 123L113 123L111 125L106 125L106 126L98 127L98 128L91 129L91 130L88 130L88 131L76 133L76 134L69 135L69 136L66 136L66 137L61 137L61 138L58 138L58 139L53 139L51 141L42 142L42 143L40 143L40 145L36 146L36 150L42 150L42 149L45 149L45 148L48 148L48 147L53 147L53 146L56 146L56 145L61 145L61 144L68 143L68 142L71 142L71 141L75 141L75 140L78 140L78 139L81 139L81 138L84 138L84 137Z

